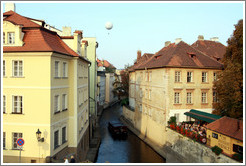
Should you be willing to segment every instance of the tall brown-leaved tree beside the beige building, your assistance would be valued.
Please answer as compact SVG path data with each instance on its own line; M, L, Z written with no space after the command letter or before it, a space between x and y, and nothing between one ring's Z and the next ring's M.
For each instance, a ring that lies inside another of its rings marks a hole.
M228 41L222 62L224 70L219 74L214 88L219 102L214 103L213 113L232 118L243 117L243 20L235 25Z

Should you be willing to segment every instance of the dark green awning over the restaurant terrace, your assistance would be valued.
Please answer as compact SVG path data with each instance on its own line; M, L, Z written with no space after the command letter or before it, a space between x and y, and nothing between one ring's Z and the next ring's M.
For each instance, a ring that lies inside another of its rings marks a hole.
M191 109L189 112L185 112L184 114L187 116L190 116L194 119L202 120L202 121L205 121L208 123L211 123L211 122L221 118L221 116L219 116L219 115L214 115L214 114L210 114L207 112L202 112L202 111L198 111L198 110L194 110L194 109Z

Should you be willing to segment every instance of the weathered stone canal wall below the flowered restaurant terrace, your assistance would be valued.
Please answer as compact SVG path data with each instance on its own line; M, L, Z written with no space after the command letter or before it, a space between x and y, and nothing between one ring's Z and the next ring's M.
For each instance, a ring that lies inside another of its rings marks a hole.
M165 128L165 132L162 132L166 137L160 143L146 136L146 133L139 130L137 126L137 118L135 112L123 106L123 117L121 117L123 123L135 133L140 139L151 146L157 153L166 159L167 163L238 163L237 161L223 155L216 155L212 152L211 148L194 142L192 139L187 138L169 128ZM156 131L156 128L152 126L149 130Z

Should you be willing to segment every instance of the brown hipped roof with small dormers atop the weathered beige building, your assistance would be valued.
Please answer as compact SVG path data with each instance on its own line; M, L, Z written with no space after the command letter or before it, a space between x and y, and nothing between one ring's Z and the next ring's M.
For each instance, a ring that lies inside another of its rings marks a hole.
M223 65L181 41L178 44L172 43L162 48L146 63L137 67L137 69L161 67L221 69Z

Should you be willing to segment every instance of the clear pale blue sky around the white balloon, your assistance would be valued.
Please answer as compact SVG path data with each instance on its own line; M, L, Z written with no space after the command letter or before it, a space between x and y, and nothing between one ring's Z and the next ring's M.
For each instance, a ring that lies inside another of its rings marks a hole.
M2 1L3 12L4 4ZM16 1L15 6L22 16L96 37L97 57L117 69L132 65L138 50L156 53L166 41L175 42L176 38L192 44L198 35L205 40L218 37L227 46L234 25L244 18L243 2ZM113 23L111 30L105 28L108 21Z

